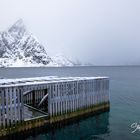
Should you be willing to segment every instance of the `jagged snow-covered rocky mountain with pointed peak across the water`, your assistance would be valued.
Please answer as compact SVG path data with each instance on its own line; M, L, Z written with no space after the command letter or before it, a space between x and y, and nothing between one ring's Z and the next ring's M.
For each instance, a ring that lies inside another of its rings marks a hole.
M63 57L48 56L44 46L18 20L0 33L0 67L73 66Z

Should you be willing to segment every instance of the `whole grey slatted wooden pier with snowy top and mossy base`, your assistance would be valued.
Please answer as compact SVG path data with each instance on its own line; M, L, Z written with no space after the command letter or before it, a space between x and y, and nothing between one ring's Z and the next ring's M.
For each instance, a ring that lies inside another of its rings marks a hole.
M42 110L44 119L28 118L25 105ZM17 126L24 131L23 126L31 129L108 109L108 77L0 79L0 136L19 131Z

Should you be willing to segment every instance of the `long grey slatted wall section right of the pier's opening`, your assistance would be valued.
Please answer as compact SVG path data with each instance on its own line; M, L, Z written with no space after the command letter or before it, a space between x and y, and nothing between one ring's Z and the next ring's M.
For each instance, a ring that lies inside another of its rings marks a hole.
M49 114L56 116L109 101L109 79L52 83Z

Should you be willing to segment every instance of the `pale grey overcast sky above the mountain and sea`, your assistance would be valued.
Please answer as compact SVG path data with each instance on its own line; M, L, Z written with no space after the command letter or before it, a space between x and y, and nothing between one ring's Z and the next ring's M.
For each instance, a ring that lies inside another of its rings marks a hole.
M19 18L49 55L140 64L140 0L0 0L0 30Z

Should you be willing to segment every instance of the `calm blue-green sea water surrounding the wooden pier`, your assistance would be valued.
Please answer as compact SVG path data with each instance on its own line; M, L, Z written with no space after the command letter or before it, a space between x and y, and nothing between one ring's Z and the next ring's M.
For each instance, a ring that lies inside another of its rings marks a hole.
M131 124L140 124L140 67L1 68L0 77L109 76L110 112L92 116L51 131L8 139L26 140L140 140Z

